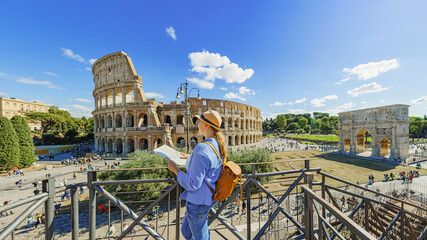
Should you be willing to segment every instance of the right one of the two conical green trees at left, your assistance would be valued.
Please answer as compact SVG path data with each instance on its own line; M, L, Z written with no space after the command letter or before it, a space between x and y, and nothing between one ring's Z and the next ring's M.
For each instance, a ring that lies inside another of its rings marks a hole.
M19 166L28 167L36 161L30 127L28 126L27 121L19 115L13 116L10 121L15 129L19 141Z

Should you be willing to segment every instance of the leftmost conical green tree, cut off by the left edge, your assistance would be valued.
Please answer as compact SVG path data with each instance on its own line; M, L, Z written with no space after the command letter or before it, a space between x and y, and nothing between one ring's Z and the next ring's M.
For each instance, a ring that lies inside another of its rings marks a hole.
M19 166L19 142L12 123L6 117L0 118L0 168L11 170Z

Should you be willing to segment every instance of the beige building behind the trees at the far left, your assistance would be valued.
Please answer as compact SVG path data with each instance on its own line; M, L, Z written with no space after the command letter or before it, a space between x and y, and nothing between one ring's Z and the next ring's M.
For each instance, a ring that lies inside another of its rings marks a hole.
M0 97L0 117L11 119L15 115L25 116L26 112L47 112L49 105L41 102L27 102L19 98ZM40 122L28 121L31 130L40 130Z

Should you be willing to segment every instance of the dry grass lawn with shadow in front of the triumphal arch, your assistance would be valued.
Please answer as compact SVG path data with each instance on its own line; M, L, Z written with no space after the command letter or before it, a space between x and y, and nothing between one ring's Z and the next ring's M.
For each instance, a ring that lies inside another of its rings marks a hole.
M272 154L273 161L283 161L291 159L310 158L310 167L322 168L322 171L341 179L356 183L368 182L368 175L374 174L376 181L384 180L384 174L393 172L397 176L398 172L408 172L415 170L415 167L387 164L376 161L363 160L339 156L331 153L321 153L314 150L308 151L288 151L277 152ZM275 164L281 171L304 168L304 161ZM426 169L419 170L420 175L426 175ZM336 184L337 182L327 179L327 183ZM316 175L315 181L321 181L321 176Z

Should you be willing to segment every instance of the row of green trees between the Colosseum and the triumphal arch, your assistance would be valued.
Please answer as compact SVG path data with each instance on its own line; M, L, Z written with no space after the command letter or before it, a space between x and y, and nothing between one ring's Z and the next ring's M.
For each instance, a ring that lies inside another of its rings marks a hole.
M338 134L338 117L329 113L279 114L262 122L264 132Z

